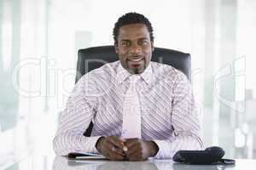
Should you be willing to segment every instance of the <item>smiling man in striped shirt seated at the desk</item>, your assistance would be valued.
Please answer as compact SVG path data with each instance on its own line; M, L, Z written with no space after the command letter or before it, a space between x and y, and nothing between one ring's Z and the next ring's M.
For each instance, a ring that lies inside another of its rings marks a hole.
M61 114L55 153L84 151L110 160L143 161L153 156L172 158L177 150L201 150L201 126L191 86L182 72L150 61L154 36L149 20L137 13L121 16L113 39L119 61L90 71L76 84ZM129 123L137 126L140 119L141 138L124 139L125 98L134 76L140 115ZM92 133L85 137L91 121Z

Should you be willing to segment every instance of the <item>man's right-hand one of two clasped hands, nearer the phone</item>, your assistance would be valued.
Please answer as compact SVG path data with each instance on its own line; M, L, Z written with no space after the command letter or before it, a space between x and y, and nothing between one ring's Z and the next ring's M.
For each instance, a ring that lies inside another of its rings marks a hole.
M159 148L151 140L125 139L127 150L125 155L130 161L144 161L150 156L155 156Z

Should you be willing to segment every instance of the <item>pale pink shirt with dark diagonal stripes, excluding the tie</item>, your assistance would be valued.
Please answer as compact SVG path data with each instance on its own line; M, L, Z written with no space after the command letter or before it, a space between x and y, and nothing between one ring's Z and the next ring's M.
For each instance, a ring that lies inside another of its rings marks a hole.
M101 136L121 135L125 92L131 74L119 61L81 77L67 99L54 139L56 155L74 151L98 153ZM177 150L201 150L201 125L190 82L170 65L150 62L137 82L142 139L153 140L155 158L172 158ZM90 137L83 133L94 123ZM132 122L131 122L132 123Z

